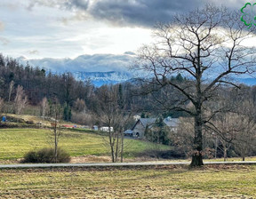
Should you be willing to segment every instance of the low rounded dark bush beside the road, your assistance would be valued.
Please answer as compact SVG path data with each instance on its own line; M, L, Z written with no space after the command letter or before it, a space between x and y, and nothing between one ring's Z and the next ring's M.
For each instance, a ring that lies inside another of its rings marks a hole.
M57 162L68 163L70 156L66 151L58 148ZM22 163L55 163L54 162L54 148L42 148L39 151L29 151L24 155Z

